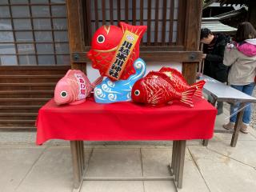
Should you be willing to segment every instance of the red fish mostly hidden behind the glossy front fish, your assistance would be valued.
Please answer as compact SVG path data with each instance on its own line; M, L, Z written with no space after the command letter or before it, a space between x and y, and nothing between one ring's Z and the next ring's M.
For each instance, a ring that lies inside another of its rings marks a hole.
M190 86L186 82L186 79L182 76L182 74L174 68L162 67L159 72L166 74L170 78L171 85L174 87L175 90L182 92L184 90L188 90L190 87L195 87L196 90L194 92L194 96L202 98L202 88L206 83L204 80L196 82L192 86Z

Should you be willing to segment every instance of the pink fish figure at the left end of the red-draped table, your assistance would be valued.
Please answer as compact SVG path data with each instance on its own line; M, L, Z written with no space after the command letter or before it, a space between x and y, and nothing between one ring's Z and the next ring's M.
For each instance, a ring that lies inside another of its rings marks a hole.
M69 70L55 86L54 101L57 105L66 103L77 105L85 102L94 86L102 82L102 78L99 77L95 82L90 83L86 74L82 73L81 70Z

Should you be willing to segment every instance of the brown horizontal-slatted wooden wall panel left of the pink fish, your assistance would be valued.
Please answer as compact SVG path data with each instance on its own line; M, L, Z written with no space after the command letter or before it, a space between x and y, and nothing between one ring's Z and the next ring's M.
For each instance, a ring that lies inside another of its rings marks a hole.
M70 66L0 66L0 130L36 130L38 110Z

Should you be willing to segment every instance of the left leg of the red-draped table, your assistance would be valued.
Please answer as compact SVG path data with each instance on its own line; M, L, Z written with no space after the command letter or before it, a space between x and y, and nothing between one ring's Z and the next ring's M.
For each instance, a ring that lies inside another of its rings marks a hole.
M74 174L74 192L81 190L82 179L85 170L84 148L82 141L70 141L72 155L73 174Z

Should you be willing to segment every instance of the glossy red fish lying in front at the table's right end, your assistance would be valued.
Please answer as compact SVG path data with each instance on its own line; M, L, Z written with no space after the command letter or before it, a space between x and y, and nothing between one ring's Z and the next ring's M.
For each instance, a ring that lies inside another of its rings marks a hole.
M131 90L131 98L134 102L141 102L153 106L171 104L174 101L182 102L186 106L193 107L192 96L195 88L179 92L171 86L170 78L166 74L151 71L145 78L134 83Z

